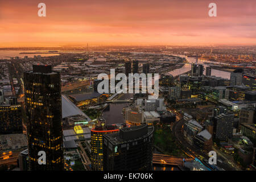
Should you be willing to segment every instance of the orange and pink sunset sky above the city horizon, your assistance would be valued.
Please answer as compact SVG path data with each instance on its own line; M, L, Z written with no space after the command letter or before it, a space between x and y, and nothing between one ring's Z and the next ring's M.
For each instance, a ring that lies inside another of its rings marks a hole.
M46 17L38 4L46 3ZM208 5L217 4L217 17ZM0 47L256 43L255 0L0 0Z

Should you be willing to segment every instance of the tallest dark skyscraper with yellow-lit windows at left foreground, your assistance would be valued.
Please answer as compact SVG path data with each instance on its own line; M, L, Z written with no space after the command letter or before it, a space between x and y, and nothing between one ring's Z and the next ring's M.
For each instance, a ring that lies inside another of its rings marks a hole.
M63 129L60 73L51 65L33 65L24 73L30 170L63 170ZM46 164L39 164L39 151Z

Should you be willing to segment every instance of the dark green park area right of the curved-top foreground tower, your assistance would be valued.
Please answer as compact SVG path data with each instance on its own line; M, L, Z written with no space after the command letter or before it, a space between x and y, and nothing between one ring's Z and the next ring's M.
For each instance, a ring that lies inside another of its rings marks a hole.
M180 149L180 144L172 134L170 128L155 129L154 146L159 148L163 154L172 156L185 156Z

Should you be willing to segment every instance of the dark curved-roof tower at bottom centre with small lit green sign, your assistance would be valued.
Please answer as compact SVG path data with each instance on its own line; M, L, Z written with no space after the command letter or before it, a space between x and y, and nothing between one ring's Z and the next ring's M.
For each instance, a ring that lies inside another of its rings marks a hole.
M104 135L104 171L151 170L153 133L141 125Z

